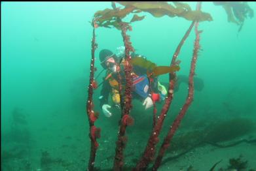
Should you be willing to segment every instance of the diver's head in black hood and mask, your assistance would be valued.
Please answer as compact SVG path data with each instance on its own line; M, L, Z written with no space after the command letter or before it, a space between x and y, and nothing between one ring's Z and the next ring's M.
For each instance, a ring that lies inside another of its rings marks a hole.
M111 50L104 49L100 51L100 65L103 69L117 72L117 61L117 55L111 52Z

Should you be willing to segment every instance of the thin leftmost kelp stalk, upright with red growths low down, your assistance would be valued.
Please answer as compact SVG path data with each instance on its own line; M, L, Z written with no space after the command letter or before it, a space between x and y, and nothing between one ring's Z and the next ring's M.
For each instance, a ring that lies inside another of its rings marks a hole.
M90 125L89 130L89 136L90 136L90 159L88 163L88 170L94 170L94 161L96 157L96 150L99 146L98 142L96 141L96 138L100 138L100 129L96 128L94 126L94 121L96 121L97 116L96 113L94 113L93 108L94 104L92 102L92 95L93 95L93 89L94 89L94 61L95 61L95 50L97 48L97 44L95 42L95 25L94 20L92 22L92 59L90 62L90 81L88 85L88 99L87 99L87 105L86 105L86 111L88 116L88 121Z

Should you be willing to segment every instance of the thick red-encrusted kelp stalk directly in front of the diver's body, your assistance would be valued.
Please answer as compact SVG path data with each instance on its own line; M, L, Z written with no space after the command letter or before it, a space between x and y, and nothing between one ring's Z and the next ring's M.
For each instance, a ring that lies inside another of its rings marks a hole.
M115 8L115 3L112 3L113 8ZM130 64L130 51L134 52L134 48L132 48L132 44L130 42L130 37L126 35L127 28L130 27L127 23L124 23L119 18L119 24L122 31L122 38L125 46L125 62L124 62L124 73L126 86L124 91L124 108L122 109L122 116L120 119L120 128L119 128L119 136L117 139L116 146L116 154L114 159L114 167L113 170L122 170L122 166L124 165L124 148L127 142L127 136L125 136L126 126L132 124L133 119L130 114L130 110L132 108L132 65Z

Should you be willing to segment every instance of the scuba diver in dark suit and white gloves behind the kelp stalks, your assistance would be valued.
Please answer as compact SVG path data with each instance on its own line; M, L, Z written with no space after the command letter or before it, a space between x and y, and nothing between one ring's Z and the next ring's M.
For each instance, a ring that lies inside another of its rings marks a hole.
M130 54L132 59L134 57L145 57L132 53ZM109 105L108 99L111 94L113 106L120 108L120 95L119 95L119 82L118 72L120 73L122 90L124 90L124 47L122 53L114 54L111 50L103 49L100 51L100 64L104 70L106 70L105 78L103 78L102 88L100 92L100 107L106 117L111 117L112 114L109 111L111 105ZM101 71L103 72L103 70ZM151 108L155 102L160 102L165 99L167 95L166 87L158 82L157 77L153 80L147 77L147 69L132 64L132 98L139 99L142 105L147 108Z

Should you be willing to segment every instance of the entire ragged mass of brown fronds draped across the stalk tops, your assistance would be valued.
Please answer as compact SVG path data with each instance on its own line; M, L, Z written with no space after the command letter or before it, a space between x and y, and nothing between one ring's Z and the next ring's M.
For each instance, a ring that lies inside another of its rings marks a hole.
M105 10L98 10L94 14L96 24L100 27L116 27L120 29L118 18L122 19L130 13L139 13L139 12L149 12L155 17L162 17L164 15L170 17L183 17L186 20L196 20L199 22L202 21L212 21L211 15L201 10L191 10L191 7L186 3L174 2L174 5L171 5L167 2L119 2L120 5L123 5L124 8L105 8ZM137 16L134 14L131 22L136 22L143 20L145 16Z

